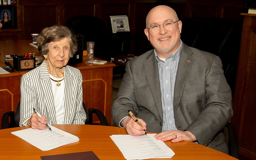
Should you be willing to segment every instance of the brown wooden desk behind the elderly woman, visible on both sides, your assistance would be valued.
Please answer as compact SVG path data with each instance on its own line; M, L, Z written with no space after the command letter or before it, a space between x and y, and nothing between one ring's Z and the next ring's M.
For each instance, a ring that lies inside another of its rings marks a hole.
M29 43L31 43L30 40L0 41L0 67L4 68L5 66L5 55L31 52L39 56L36 48ZM8 61L13 66L13 60ZM113 67L116 65L110 62L104 65L86 64L86 61L87 58L84 56L83 63L72 65L72 67L78 68L83 76L83 101L87 109L96 108L101 110L110 124ZM5 112L16 111L20 101L20 79L27 72L15 70L10 74L0 74L0 120ZM93 121L95 123L99 122L97 116L93 116Z

